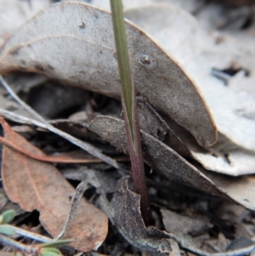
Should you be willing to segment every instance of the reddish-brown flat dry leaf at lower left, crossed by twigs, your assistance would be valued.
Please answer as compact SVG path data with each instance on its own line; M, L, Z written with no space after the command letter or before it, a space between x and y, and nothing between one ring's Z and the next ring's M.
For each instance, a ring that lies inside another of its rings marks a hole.
M0 122L6 139L43 156L42 151L14 133L2 117ZM37 162L6 146L3 146L2 175L8 197L28 212L37 209L43 227L51 236L56 236L65 222L70 208L69 197L75 194L75 189L53 165ZM74 247L88 252L100 246L107 230L105 213L83 199L66 237L75 239Z

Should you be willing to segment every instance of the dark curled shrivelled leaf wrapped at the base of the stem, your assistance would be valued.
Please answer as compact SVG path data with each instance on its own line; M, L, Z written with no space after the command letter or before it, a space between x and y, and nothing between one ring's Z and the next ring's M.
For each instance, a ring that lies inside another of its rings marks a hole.
M116 185L116 192L111 200L101 196L100 204L108 214L113 225L133 247L153 255L169 255L172 251L170 234L157 230L155 227L146 228L140 213L140 197L128 190L128 177L123 177Z

